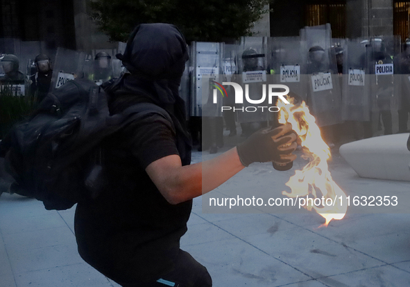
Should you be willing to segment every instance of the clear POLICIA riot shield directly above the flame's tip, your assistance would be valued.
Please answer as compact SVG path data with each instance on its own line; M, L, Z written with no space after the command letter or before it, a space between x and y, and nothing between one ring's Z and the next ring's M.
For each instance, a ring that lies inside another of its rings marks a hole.
M306 56L299 37L268 38L268 72L274 83L306 101Z

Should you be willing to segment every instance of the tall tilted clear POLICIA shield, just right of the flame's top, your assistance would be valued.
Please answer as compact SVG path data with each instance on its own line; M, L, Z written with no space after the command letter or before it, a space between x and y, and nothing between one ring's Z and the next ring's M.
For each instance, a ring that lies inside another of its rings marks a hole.
M341 89L330 24L300 30L302 53L307 56L307 104L318 126L341 123Z

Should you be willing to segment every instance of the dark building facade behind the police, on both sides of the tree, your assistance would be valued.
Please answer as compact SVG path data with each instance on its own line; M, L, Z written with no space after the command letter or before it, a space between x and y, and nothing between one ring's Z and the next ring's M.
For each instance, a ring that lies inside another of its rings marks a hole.
M330 23L333 38L373 35L409 37L410 1L273 0L271 13L255 23L259 36L297 36L300 28ZM45 49L116 49L98 30L85 0L0 0L0 38L42 41Z

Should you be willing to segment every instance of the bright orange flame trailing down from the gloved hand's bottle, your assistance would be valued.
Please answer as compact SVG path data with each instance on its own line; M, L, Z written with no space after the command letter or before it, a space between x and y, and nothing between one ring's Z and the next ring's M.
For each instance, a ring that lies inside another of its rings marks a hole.
M302 204L308 211L314 209L325 218L325 224L333 219L341 220L347 211L345 193L333 181L330 175L327 160L330 158L330 149L321 137L316 119L309 113L305 101L295 105L294 100L288 97L290 104L278 101L280 108L279 122L285 124L289 122L293 131L296 131L302 141L302 158L309 160L309 163L302 170L296 170L286 183L291 192L283 191L282 195L302 198ZM316 199L316 201L315 201ZM342 201L343 200L343 201Z

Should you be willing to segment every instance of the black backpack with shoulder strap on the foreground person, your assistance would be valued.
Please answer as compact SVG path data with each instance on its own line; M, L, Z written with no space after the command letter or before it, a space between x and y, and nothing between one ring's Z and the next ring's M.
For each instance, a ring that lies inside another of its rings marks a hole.
M173 126L164 109L149 103L110 116L98 85L84 79L65 83L0 142L6 170L15 180L11 191L41 200L48 210L95 199L103 186L101 141L149 113Z

